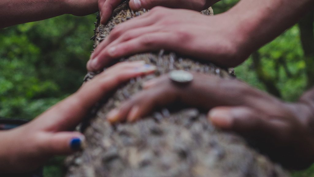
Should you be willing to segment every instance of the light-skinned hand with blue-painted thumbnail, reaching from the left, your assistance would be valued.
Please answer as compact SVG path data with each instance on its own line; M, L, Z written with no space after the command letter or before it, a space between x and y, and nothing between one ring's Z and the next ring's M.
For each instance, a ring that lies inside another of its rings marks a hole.
M82 148L83 134L71 130L89 108L121 83L154 69L142 61L116 64L30 123L0 131L0 172L29 172L53 155L69 154Z

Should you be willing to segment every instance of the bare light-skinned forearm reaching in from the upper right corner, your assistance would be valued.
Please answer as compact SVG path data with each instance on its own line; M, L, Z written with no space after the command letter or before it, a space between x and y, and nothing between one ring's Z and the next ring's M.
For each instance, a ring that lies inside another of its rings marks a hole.
M241 0L228 11L238 21L244 50L253 52L313 9L312 0Z

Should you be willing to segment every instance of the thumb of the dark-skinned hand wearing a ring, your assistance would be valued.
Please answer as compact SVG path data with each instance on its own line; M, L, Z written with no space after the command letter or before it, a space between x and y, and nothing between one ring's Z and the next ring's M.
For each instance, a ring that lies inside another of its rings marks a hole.
M212 123L246 137L269 137L282 127L277 119L248 107L215 107L208 113Z

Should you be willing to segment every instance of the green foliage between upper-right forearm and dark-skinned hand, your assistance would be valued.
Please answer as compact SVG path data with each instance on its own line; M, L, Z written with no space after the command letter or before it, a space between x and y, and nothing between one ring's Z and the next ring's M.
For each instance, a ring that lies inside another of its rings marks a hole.
M279 88L282 99L295 101L306 89L306 65L297 26L287 30L271 43L258 50L263 74L271 77ZM235 68L237 77L254 87L267 91L254 69L252 56Z

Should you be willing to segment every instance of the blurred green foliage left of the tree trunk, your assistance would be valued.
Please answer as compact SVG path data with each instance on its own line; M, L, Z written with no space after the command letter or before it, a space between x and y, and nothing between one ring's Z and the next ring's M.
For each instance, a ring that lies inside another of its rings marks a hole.
M0 30L0 116L32 119L82 84L95 15Z

